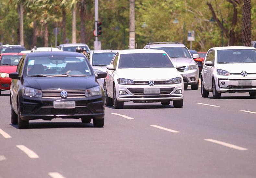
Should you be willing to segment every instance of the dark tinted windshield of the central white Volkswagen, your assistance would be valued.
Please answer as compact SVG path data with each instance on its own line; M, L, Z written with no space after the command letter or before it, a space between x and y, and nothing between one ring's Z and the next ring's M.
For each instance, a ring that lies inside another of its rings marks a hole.
M166 54L162 53L135 53L121 54L119 68L163 68L174 67Z

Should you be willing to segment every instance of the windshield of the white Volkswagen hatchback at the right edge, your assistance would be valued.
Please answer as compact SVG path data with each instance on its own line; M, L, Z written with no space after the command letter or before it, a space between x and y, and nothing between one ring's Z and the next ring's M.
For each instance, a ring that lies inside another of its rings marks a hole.
M256 63L256 50L218 50L217 63Z

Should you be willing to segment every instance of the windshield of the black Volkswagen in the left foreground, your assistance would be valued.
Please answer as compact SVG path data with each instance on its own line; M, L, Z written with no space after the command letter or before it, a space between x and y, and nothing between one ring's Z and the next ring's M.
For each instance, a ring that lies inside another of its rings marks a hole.
M88 76L92 72L81 56L30 57L27 64L28 76Z

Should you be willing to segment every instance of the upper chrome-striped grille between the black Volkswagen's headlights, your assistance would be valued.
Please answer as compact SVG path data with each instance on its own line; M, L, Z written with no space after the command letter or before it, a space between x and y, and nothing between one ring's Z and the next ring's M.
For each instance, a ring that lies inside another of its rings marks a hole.
M42 98L61 98L63 90L42 90ZM85 90L65 90L68 95L66 98L85 98Z

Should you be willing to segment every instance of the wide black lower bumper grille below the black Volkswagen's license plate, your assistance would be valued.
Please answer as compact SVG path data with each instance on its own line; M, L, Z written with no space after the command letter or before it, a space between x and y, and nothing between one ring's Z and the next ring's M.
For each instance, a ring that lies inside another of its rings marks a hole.
M83 115L92 114L87 107L76 107L74 109L55 109L51 107L42 107L35 115Z

